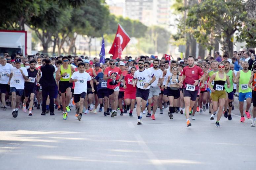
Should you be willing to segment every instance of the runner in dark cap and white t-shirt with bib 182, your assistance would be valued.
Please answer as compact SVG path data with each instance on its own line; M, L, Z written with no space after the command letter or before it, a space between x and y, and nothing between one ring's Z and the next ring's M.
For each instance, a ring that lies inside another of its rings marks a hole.
M21 59L15 59L16 67L11 69L8 85L10 85L10 92L12 93L12 109L13 117L18 116L18 108L23 95L24 83L28 79L27 69L21 67Z

